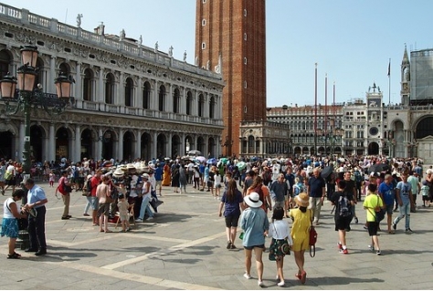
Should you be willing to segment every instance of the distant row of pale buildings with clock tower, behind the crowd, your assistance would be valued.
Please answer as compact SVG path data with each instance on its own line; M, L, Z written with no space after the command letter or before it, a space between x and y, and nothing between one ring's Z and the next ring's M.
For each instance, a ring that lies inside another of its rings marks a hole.
M414 51L410 56L409 59L405 47L400 104L385 105L383 92L374 83L364 99L332 108L318 105L317 113L314 106L271 108L268 120L290 125L287 142L294 154L329 154L331 149L326 145L325 150L321 143L331 140L334 154L419 157L433 164L433 95L429 93L433 92L433 86L428 85L433 75L430 73L433 49ZM324 124L325 120L335 122Z

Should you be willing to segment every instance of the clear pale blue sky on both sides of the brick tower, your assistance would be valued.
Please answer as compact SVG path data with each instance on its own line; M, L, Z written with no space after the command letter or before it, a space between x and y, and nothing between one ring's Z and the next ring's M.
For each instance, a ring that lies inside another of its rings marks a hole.
M195 0L0 2L72 26L82 14L83 29L93 31L103 21L106 33L119 35L124 29L127 37L142 35L144 46L158 41L166 52L173 46L178 59L186 50L187 62L194 63ZM333 82L336 102L364 99L375 82L385 104L388 99L399 103L405 44L409 53L433 47L430 0L268 0L266 9L269 107L313 105L315 63L318 103L325 103L325 74L328 104L333 102Z

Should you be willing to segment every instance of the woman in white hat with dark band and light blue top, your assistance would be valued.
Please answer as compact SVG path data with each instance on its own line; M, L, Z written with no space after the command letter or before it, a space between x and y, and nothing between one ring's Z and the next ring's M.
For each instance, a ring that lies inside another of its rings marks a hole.
M242 244L245 250L245 268L244 277L251 278L251 257L252 250L256 255L256 268L258 274L258 285L263 286L263 261L262 255L265 250L265 235L268 234L269 221L265 211L260 208L259 193L251 192L244 197L245 203L249 206L240 217L240 227L244 230Z

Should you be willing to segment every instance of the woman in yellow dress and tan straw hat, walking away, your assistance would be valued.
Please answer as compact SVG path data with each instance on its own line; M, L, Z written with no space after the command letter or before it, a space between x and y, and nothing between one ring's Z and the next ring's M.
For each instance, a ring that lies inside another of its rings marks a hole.
M310 248L310 226L312 225L312 211L307 211L309 196L305 192L301 192L295 196L295 202L299 208L290 211L290 217L293 221L291 226L291 238L293 239L292 251L295 255L295 262L298 265L298 273L296 277L305 284L307 273L303 265L305 263L305 251Z

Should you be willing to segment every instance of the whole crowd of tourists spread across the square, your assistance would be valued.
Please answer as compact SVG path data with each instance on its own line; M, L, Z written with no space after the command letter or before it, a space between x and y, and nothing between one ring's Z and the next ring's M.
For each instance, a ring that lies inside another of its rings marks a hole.
M163 187L180 194L192 191L191 187L198 192L209 192L220 201L218 213L225 217L227 249L237 249L238 226L241 228L247 279L251 278L254 252L259 286L263 286L262 255L267 236L271 238L269 260L276 262L278 286L285 286L283 261L288 253L285 245L294 254L298 267L296 278L301 284L306 282L304 254L310 248L309 230L320 225L324 200L334 205L336 245L343 255L349 254L346 233L351 230L351 223L359 223L356 206L359 208L363 200L364 228L371 236L368 247L376 255L382 254L377 236L381 231L379 213L384 213L388 234L396 234L403 218L405 232L412 234L411 213L417 212L417 206L429 207L433 203L433 169L423 169L423 161L415 158L300 156L197 160L187 157L131 162L112 159L70 162L63 158L58 173L52 164L44 165L47 169L43 171L43 181L56 188L56 195L64 203L61 219L72 217L70 192L82 192L87 199L82 215L91 216L92 225L104 233L111 233L109 223L115 219L120 220L123 232L130 231L132 219L137 223L152 220L163 203L160 200ZM47 254L44 243L47 198L32 178L23 189L16 190L22 179L20 173L22 166L18 162L0 161L0 189L4 194L11 188L13 193L5 201L1 232L11 240L8 258L20 257L15 253L18 227L15 221L27 216L31 244L26 251ZM20 210L16 203L22 197L27 201ZM43 214L29 215L32 209ZM290 218L291 227L284 218Z

